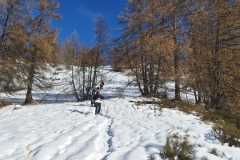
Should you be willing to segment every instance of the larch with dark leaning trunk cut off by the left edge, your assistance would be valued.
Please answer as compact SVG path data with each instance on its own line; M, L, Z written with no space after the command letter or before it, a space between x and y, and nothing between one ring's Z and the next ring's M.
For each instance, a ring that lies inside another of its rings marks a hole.
M26 52L30 1L0 1L0 91L12 93L24 82L23 57Z

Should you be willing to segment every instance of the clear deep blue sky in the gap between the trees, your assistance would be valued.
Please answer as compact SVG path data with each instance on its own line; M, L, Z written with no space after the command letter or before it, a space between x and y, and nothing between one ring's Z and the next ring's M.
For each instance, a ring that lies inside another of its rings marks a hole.
M62 16L62 20L53 22L53 26L60 29L60 41L64 41L71 33L77 31L80 41L92 47L93 19L97 14L101 14L106 19L113 37L117 37L119 32L115 29L121 28L117 15L124 11L127 0L55 0L55 2L60 4L57 13Z

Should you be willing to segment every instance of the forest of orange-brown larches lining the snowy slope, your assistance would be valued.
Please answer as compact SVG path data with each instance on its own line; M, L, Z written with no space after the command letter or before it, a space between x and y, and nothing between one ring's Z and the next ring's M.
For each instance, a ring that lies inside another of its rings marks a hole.
M49 65L65 65L72 74L77 101L87 98L101 66L127 70L144 97L166 97L175 82L175 98L191 90L207 109L240 112L239 0L128 0L112 38L108 22L94 19L95 44L84 45L77 32L59 41L57 0L0 0L0 92L52 87ZM86 33L87 34L87 33Z

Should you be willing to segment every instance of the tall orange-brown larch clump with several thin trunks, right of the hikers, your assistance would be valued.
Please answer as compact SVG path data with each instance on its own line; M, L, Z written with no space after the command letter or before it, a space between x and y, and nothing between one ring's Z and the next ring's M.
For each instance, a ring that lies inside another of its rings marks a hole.
M170 5L164 1L131 0L126 13L119 15L123 24L119 53L143 96L157 96L161 86L173 76L170 36Z

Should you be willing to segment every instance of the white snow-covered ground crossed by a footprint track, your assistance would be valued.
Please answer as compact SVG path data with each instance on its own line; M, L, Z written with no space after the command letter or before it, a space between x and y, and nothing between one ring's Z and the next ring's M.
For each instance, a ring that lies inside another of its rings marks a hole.
M61 76L60 76L61 78ZM210 124L176 109L154 113L154 106L136 106L135 86L119 93L128 82L124 73L106 73L101 115L90 102L74 102L74 96L35 92L43 104L21 109L0 109L1 160L147 160L158 154L172 134L187 136L195 145L196 160L240 160L240 149L221 145ZM25 92L5 99L23 102ZM216 149L217 156L210 152Z

